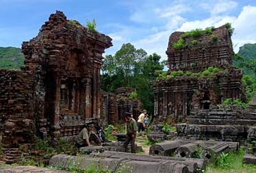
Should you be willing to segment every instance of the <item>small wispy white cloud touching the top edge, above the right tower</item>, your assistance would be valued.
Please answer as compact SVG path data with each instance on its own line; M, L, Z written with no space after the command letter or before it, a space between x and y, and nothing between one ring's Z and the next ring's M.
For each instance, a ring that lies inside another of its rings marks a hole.
M222 1L212 1L210 3L201 3L201 8L209 10L212 16L216 16L222 12L229 12L238 6L235 1L222 0Z

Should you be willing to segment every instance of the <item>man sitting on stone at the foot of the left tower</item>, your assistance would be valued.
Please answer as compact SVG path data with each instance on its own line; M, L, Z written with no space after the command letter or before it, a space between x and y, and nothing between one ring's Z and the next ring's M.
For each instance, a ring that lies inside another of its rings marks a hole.
M92 142L101 146L101 139L99 139L98 135L94 133L93 128L93 124L86 124L84 129L80 131L77 140L78 147L92 146Z

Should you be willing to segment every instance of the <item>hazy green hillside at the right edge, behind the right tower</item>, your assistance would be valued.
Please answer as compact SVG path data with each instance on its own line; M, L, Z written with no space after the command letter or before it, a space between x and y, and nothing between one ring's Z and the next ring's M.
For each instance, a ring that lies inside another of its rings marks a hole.
M239 48L238 53L242 55L244 58L244 61L248 61L250 59L256 60L256 43L255 44L244 44L244 46L241 46ZM234 65L237 65L238 62L233 62ZM244 70L245 75L250 75L251 77L254 77L254 73L252 70L248 70L247 68L242 68Z

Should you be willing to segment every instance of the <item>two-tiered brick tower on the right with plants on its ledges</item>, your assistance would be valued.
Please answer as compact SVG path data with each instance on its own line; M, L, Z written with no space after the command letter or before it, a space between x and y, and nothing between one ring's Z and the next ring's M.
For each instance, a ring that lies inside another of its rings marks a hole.
M202 31L196 37L184 35L170 35L168 75L154 84L156 117L182 118L190 114L190 109L209 109L225 98L242 97L242 71L231 65L234 53L229 30L222 26L211 34ZM183 46L175 49L173 44L181 38ZM203 72L209 67L211 72Z

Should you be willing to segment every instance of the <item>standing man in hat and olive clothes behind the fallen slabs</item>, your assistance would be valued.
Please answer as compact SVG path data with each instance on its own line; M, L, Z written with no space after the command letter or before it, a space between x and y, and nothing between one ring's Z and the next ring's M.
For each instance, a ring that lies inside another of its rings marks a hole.
M132 118L131 113L126 112L125 118L127 119L127 134L126 134L126 140L124 143L125 152L127 152L127 147L129 142L131 142L131 153L135 153L135 139L138 131L136 120Z

